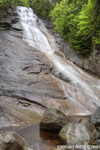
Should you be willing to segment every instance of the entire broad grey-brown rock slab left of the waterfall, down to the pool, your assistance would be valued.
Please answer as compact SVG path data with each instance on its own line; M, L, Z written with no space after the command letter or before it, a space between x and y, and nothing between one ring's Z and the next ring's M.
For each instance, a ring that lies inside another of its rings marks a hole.
M21 30L0 30L0 127L39 121L46 108L66 107L52 63L22 38Z

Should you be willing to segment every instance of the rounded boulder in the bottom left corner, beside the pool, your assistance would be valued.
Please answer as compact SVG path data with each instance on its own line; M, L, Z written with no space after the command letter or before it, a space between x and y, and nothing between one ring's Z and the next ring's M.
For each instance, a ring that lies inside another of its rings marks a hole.
M27 142L16 132L0 134L0 150L32 150Z

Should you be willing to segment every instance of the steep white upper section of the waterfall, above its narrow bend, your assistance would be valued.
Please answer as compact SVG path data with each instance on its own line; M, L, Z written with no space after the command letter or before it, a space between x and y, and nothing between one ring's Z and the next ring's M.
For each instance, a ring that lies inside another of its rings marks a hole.
M23 39L28 45L42 52L54 52L51 48L44 32L48 33L42 21L33 13L31 8L17 7L17 13L23 27ZM49 38L49 37L48 37Z

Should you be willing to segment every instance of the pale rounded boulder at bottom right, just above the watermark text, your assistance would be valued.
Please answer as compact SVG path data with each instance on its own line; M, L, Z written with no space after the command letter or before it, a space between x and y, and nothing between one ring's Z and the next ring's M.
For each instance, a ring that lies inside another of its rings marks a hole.
M71 144L95 144L93 133L82 123L68 123L59 136Z

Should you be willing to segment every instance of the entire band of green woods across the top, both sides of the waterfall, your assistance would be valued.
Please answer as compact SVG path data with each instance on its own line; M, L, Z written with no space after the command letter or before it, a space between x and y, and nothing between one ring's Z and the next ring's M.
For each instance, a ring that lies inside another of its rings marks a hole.
M99 0L0 0L0 6L10 5L32 7L84 56L91 54L93 45L100 45Z

